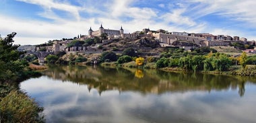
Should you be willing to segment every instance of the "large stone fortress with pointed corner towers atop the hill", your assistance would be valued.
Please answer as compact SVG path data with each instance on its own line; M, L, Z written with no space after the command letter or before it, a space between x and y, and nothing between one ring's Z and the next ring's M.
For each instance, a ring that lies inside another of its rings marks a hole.
M138 33L124 33L123 27L119 30L115 29L104 29L102 27L102 24L100 25L100 28L96 31L93 31L92 28L90 27L88 31L88 37L95 37L95 36L100 36L102 33L106 33L108 35L108 38L113 39L113 38L130 38L130 39L135 39L137 36L139 36Z

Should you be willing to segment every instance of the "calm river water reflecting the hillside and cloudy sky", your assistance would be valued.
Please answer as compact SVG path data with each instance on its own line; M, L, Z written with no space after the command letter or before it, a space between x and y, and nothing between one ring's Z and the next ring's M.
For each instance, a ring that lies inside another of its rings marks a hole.
M46 122L256 122L256 78L51 66L20 88Z

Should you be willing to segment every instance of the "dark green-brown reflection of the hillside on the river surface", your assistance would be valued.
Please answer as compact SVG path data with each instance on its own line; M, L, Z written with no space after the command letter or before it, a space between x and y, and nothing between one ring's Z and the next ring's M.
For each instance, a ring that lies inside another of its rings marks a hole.
M137 70L123 68L101 68L86 66L51 66L44 74L55 80L87 85L88 90L135 91L142 94L164 92L187 92L191 90L238 90L245 94L245 83L256 79L211 74L162 72L158 70Z

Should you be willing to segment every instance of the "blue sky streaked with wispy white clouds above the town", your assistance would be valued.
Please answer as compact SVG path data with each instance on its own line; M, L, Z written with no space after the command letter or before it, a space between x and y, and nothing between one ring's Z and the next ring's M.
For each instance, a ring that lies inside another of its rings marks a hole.
M0 34L15 44L40 44L88 35L88 29L125 33L165 29L256 40L255 0L1 0Z

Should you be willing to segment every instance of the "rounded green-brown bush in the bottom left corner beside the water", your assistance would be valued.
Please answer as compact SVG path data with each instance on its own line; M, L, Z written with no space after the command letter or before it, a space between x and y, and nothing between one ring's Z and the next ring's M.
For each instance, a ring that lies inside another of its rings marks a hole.
M44 122L43 108L22 92L12 90L0 101L0 122Z

